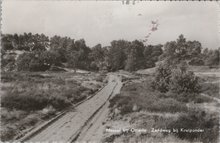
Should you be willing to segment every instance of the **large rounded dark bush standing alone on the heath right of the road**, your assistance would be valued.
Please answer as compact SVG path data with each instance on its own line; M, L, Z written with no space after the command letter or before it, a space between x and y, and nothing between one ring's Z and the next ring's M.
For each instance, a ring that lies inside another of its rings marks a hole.
M179 65L160 65L152 81L153 89L160 92L174 92L178 94L189 93L197 94L201 92L199 78L193 72L187 71L185 63Z

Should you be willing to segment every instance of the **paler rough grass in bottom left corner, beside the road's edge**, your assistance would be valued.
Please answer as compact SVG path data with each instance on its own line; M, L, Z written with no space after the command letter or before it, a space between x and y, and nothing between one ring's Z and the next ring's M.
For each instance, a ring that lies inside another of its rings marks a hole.
M53 117L54 114L38 112L27 112L23 110L1 109L1 141L11 141L21 136L26 130L39 122Z

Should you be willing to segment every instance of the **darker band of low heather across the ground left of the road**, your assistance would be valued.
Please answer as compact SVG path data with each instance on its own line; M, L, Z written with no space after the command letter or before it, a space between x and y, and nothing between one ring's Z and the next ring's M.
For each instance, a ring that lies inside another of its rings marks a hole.
M9 109L20 109L20 110L41 110L48 105L52 105L55 109L61 110L71 105L72 103L83 100L85 95L83 91L86 88L82 88L78 85L72 85L75 88L70 89L68 85L61 84L59 88L42 88L39 83L16 83L17 86L11 90L6 91L6 94L2 96L2 106ZM50 85L52 86L52 85ZM60 86L59 84L53 84L53 86ZM70 86L70 85L69 85ZM68 93L71 95L68 95ZM68 98L67 98L68 97ZM70 100L69 100L70 99Z

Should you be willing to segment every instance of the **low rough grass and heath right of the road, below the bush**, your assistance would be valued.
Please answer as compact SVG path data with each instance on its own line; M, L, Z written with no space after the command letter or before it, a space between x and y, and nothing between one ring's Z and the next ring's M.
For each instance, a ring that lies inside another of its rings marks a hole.
M208 97L199 94L160 93L151 88L151 77L143 83L125 84L119 95L110 100L113 119L128 122L136 128L159 129L203 129L201 133L148 133L145 135L111 135L106 138L110 142L212 142L217 143L219 133L219 117L202 109L186 106L187 102L212 102ZM217 94L217 86L206 85L206 92ZM204 87L203 87L204 89ZM213 90L213 91L211 91ZM134 107L136 109L134 110ZM119 112L115 112L118 109ZM143 114L142 114L143 113ZM120 117L120 118L117 118ZM124 119L123 119L124 118Z

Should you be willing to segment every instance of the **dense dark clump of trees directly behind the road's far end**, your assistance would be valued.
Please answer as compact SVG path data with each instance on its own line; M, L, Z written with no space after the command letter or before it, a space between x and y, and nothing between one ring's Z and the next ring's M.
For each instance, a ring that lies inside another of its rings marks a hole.
M162 54L162 45L146 47L143 42L134 40L113 41L108 50L108 64L112 71L125 69L136 71L155 66Z

